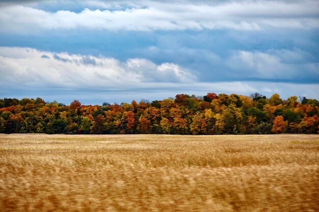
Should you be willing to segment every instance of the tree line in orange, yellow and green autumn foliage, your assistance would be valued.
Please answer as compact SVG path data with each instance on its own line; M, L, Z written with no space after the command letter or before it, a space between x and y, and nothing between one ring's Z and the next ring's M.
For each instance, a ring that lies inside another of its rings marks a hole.
M208 93L130 104L70 105L41 98L0 99L0 133L271 134L319 133L319 102Z

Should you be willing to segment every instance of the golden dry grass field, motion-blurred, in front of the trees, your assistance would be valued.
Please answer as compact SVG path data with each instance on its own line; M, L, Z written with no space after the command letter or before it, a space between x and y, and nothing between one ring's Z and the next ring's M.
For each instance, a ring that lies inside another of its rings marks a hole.
M319 136L0 134L0 211L319 211Z

